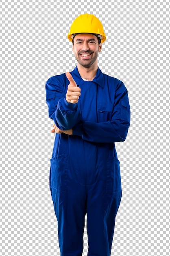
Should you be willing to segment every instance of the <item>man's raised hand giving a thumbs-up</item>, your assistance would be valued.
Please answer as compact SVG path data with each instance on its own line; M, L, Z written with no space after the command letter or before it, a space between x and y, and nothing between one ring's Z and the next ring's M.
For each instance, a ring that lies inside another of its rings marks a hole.
M74 81L72 75L69 72L66 72L65 75L70 82L66 93L66 101L75 104L78 102L78 99L81 95L81 89L77 86L76 82Z

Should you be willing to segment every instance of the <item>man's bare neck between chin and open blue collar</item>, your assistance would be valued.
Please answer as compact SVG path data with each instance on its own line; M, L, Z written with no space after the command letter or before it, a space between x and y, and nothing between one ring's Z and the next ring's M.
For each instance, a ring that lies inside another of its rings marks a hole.
M80 76L86 80L92 81L97 73L98 65L91 65L90 67L83 67L77 63L77 68Z

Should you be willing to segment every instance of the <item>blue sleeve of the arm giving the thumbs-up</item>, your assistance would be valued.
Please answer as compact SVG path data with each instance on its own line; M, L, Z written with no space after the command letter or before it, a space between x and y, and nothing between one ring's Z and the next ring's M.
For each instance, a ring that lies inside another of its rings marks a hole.
M59 76L53 76L46 82L49 117L61 130L69 130L81 120L78 104L68 103L65 99L67 83L66 79L59 79Z

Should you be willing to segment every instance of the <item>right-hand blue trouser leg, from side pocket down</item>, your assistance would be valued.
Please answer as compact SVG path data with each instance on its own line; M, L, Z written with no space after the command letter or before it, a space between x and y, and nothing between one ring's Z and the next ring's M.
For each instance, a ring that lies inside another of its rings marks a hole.
M96 166L95 173L87 192L88 256L110 256L122 196L118 159L108 157L107 162Z

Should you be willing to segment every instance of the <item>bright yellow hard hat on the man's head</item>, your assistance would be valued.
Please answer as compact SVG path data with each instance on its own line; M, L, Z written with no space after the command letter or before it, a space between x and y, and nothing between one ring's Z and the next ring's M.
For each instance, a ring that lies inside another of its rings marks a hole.
M79 33L89 33L100 35L101 43L106 40L106 35L102 26L102 23L93 14L81 14L78 16L70 27L70 32L68 33L68 39L72 42L73 34Z

